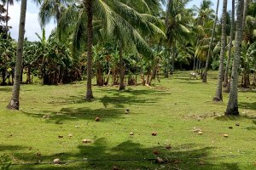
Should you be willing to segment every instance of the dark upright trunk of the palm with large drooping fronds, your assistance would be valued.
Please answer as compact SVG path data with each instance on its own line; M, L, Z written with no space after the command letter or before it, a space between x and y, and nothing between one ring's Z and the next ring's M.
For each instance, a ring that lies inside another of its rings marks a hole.
M93 99L91 89L91 77L92 77L92 43L93 43L93 30L92 30L92 0L84 0L85 7L87 9L87 92L86 99Z

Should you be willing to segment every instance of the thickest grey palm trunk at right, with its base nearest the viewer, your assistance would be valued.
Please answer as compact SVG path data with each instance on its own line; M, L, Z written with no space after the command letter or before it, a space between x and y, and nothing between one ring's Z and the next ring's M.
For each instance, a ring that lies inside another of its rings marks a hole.
M238 0L237 21L236 21L236 38L235 38L235 53L232 66L232 76L230 83L230 99L227 105L225 115L239 115L237 101L238 87L238 69L241 62L241 41L242 41L242 23L243 23L243 7L244 1Z

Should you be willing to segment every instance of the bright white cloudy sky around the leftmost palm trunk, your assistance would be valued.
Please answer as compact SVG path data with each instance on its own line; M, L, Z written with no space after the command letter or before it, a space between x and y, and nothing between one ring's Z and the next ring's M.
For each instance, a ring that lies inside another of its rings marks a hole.
M20 3L15 3L14 6L9 8L9 26L13 28L10 30L11 36L18 39L19 34L19 22L20 22ZM55 28L55 23L51 21L49 25L45 27L46 37L49 37L50 32ZM25 37L29 41L38 40L38 37L35 35L35 32L38 32L41 35L42 30L38 22L38 8L35 4L28 1L26 8L26 24L25 24Z

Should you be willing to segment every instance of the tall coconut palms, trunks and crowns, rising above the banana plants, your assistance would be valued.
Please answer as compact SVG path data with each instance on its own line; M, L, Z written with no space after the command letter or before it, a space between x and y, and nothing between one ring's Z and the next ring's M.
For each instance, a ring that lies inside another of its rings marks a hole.
M119 89L124 89L124 54L126 51L136 50L143 59L147 60L148 68L152 68L152 77L158 70L159 56L165 54L166 77L169 69L174 71L174 63L183 56L194 59L194 70L201 68L203 82L207 82L207 69L211 55L219 47L219 74L218 87L213 100L222 101L222 86L230 80L230 100L226 114L237 115L237 86L238 69L241 60L241 41L243 27L246 26L247 5L244 0L237 2L236 38L234 46L234 59L232 76L229 77L230 60L232 56L232 39L234 35L235 0L232 0L232 16L229 38L229 54L224 73L224 55L226 48L227 29L227 0L223 3L221 25L218 25L218 5L216 14L212 10L212 2L203 0L200 7L185 8L188 0L36 0L40 5L39 19L41 26L49 20L57 23L58 38L62 42L72 42L73 54L86 51L87 57L87 92L85 99L94 98L92 93L92 62L93 46L99 42L113 42L119 51ZM219 0L218 0L219 3ZM161 10L161 4L166 5L166 12ZM246 3L248 4L248 3ZM192 17L195 14L195 19ZM215 18L215 20L213 20ZM20 70L22 62L22 47L24 39L24 26L26 19L26 0L21 1L20 32L15 62L15 84L9 109L19 109ZM241 25L240 25L241 24ZM212 28L213 27L213 28ZM216 27L218 29L216 30ZM216 37L216 31L221 36ZM218 44L220 39L220 44ZM86 45L84 45L86 44ZM129 45L128 45L129 44ZM212 52L212 47L214 47ZM156 47L156 48L154 48ZM254 50L248 54L253 56ZM152 50L154 48L154 50ZM217 53L218 54L218 53ZM171 57L170 57L171 56ZM172 59L172 60L171 60ZM165 60L165 59L164 59ZM202 65L206 64L205 71ZM172 65L169 67L169 65ZM148 70L148 76L150 75ZM148 77L148 80L151 78ZM151 79L152 80L152 79ZM148 81L149 82L149 81Z

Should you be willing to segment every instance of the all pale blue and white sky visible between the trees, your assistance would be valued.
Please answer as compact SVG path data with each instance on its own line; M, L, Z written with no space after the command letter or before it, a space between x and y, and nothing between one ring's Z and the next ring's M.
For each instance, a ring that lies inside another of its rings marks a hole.
M231 1L229 1L231 2ZM199 6L201 3L201 0L191 0L190 3L188 3L188 8L193 7L193 5ZM216 3L217 0L212 0L212 3L214 5L212 8L214 10L216 9ZM220 6L218 10L218 15L221 14L222 9L222 3L223 1L220 0ZM228 10L230 10L231 4L228 4ZM16 3L14 6L10 7L9 10L9 16L11 17L11 20L9 20L9 26L12 26L11 29L11 36L17 39L18 32L19 32L19 20L20 20L20 3ZM54 21L51 21L48 26L45 27L46 36L48 37L50 34L50 31L55 28ZM26 11L26 33L25 37L28 38L30 41L38 40L38 37L35 35L35 32L38 32L39 35L41 35L41 28L38 23L38 7L35 3L32 3L31 0L27 1L27 11Z

